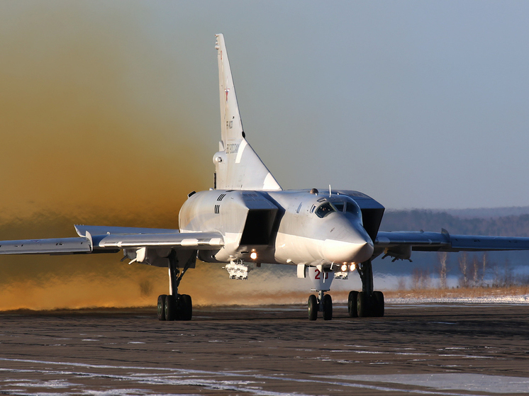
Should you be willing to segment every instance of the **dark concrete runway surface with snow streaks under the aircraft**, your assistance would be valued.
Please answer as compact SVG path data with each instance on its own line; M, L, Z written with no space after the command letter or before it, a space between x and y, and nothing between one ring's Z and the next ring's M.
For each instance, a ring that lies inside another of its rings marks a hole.
M0 314L0 394L529 395L529 306L303 305Z

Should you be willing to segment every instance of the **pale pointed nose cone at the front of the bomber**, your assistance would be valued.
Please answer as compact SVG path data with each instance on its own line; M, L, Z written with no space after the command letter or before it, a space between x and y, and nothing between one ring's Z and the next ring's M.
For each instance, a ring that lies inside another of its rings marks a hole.
M374 247L367 234L355 233L345 240L326 239L324 256L330 262L362 263L373 255Z

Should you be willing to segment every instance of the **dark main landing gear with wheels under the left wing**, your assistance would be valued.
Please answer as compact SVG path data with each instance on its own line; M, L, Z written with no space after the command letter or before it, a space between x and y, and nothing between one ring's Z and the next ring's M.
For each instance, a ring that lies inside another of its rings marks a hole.
M176 251L171 251L168 258L170 294L158 296L158 320L191 320L191 317L193 317L191 296L179 294L178 286L189 266L194 264L196 251L191 252L191 256L185 262L182 272L179 269Z

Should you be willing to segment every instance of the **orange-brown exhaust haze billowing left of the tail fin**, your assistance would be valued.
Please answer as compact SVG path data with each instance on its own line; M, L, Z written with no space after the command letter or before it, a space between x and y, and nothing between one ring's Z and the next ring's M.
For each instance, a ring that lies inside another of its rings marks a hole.
M76 223L177 228L186 194L213 172L193 139L204 110L172 101L179 71L134 13L30 4L0 6L0 239L73 237ZM119 259L1 256L0 310L153 305L167 293L165 268Z

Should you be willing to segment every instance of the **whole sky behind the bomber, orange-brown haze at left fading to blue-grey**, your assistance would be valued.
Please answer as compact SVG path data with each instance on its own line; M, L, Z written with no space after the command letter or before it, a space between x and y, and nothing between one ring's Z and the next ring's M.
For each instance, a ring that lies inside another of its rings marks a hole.
M187 193L213 184L215 33L247 140L283 188L330 184L389 209L529 205L528 11L1 1L0 239L72 237L73 224L176 228ZM165 268L120 258L4 257L0 310L152 305L167 292ZM281 273L263 276L234 286L198 264L182 288L203 303L226 288L243 299L283 290Z

